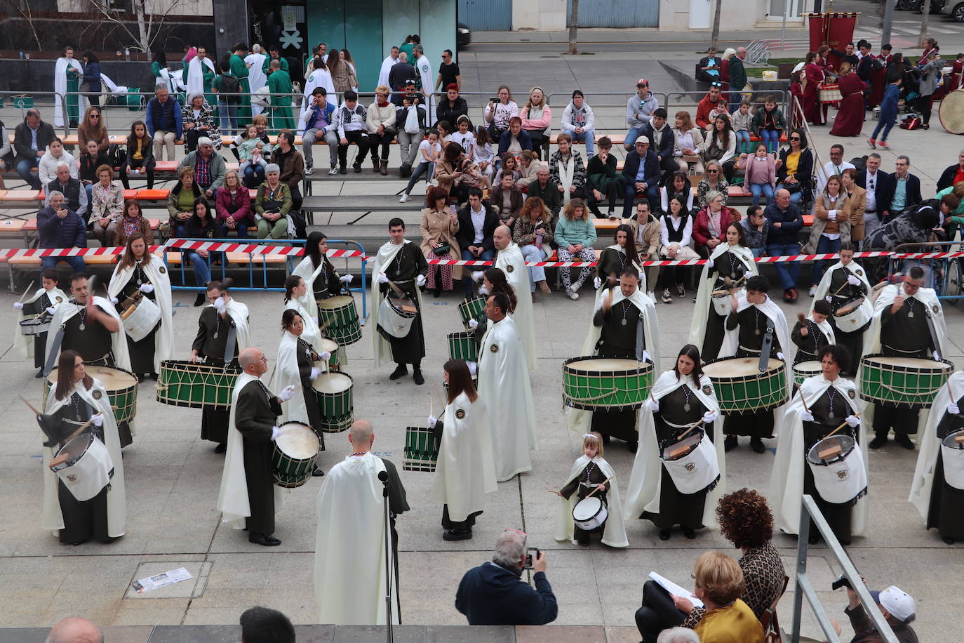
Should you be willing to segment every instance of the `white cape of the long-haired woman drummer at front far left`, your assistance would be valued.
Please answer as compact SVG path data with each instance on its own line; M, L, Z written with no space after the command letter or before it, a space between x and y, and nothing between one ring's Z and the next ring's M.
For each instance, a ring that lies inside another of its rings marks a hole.
M111 488L107 492L107 535L118 538L124 534L124 523L127 521L127 504L124 494L123 459L120 457L120 434L118 433L117 418L111 409L111 400L107 397L107 390L100 380L92 378L94 385L87 390L81 384L74 388L81 399L90 404L98 413L103 414L104 446L114 464L114 477L111 478ZM73 390L62 400L51 391L47 396L47 405L43 413L50 415L67 404ZM96 395L94 394L96 393ZM49 464L57 455L55 447L43 448L43 515L41 526L56 532L64 528L64 515L61 513L60 500L57 492L57 474L50 470Z

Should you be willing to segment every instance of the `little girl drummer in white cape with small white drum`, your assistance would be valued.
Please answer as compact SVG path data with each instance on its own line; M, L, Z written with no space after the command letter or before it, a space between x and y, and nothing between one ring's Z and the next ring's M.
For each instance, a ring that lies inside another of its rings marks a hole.
M582 436L582 455L559 496L555 514L555 539L589 545L589 535L600 534L603 545L629 547L623 523L623 503L616 472L603 459L603 436L593 431Z

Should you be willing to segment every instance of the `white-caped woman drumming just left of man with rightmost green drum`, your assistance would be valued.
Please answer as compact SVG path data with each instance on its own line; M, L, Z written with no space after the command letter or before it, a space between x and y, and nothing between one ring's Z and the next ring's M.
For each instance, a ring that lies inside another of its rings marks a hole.
M844 375L856 373L860 356L864 354L864 333L873 318L870 281L864 268L853 260L853 254L852 243L841 244L840 262L823 273L814 296L815 304L821 299L830 304L833 314L828 320L835 339L832 343L845 346L852 357L851 372Z

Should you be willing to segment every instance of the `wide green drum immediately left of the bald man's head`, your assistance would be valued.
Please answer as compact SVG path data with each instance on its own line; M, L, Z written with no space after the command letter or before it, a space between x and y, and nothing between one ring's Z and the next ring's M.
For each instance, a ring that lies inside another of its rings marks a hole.
M235 365L165 360L157 377L157 401L190 409L227 411L240 374L241 369Z

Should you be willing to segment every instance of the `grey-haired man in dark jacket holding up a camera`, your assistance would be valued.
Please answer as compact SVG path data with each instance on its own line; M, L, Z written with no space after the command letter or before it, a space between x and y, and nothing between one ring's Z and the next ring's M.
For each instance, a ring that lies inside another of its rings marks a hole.
M546 578L546 552L525 549L525 533L506 529L495 541L492 560L462 576L455 608L469 625L546 625L555 620L558 606ZM531 569L535 589L522 582Z

